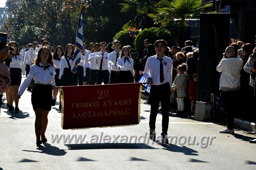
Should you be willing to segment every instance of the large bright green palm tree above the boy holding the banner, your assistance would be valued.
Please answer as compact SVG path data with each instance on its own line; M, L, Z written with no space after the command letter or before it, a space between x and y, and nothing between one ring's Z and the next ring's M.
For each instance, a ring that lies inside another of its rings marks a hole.
M184 43L187 19L199 18L204 8L212 6L203 3L203 0L161 0L156 14L148 14L148 16L153 18L155 25L158 25L157 34L165 29L171 30L181 45Z

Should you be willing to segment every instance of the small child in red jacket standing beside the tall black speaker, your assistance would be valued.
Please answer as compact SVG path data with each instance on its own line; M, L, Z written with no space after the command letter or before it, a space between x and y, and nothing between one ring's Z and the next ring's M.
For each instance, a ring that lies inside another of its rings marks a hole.
M190 101L191 101L191 114L195 113L195 101L197 101L197 81L198 77L197 74L193 74L193 79L189 83L189 95L190 95Z

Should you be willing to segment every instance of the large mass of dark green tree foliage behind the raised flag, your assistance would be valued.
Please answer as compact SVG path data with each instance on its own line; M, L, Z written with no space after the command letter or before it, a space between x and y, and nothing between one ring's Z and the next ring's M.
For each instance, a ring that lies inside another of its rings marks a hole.
M123 0L120 0L123 3ZM54 46L65 46L76 36L81 0L22 0L1 32L8 31L14 41L47 40ZM116 0L86 0L83 3L83 37L89 42L111 42L131 15L120 12Z

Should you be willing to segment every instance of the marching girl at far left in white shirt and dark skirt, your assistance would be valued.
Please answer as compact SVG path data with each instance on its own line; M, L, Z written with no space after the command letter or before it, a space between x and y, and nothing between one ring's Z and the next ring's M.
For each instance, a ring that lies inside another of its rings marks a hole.
M12 59L10 62L10 77L11 77L11 84L8 89L8 93L6 94L7 97L7 105L9 105L9 111L13 111L13 101L15 102L15 113L19 113L19 99L17 98L19 86L21 85L21 74L25 75L25 67L23 63L23 55L19 53L19 47L17 42L11 41L9 42L8 46L14 47L13 54L9 54L9 58Z

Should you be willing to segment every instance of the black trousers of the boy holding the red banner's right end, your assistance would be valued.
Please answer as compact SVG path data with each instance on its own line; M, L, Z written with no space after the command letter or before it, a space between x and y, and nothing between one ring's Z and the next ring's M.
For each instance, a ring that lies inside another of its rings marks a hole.
M162 132L167 133L169 125L169 103L171 87L169 82L162 85L151 85L150 87L150 117L149 128L155 129L155 120L158 114L159 102L162 104Z

